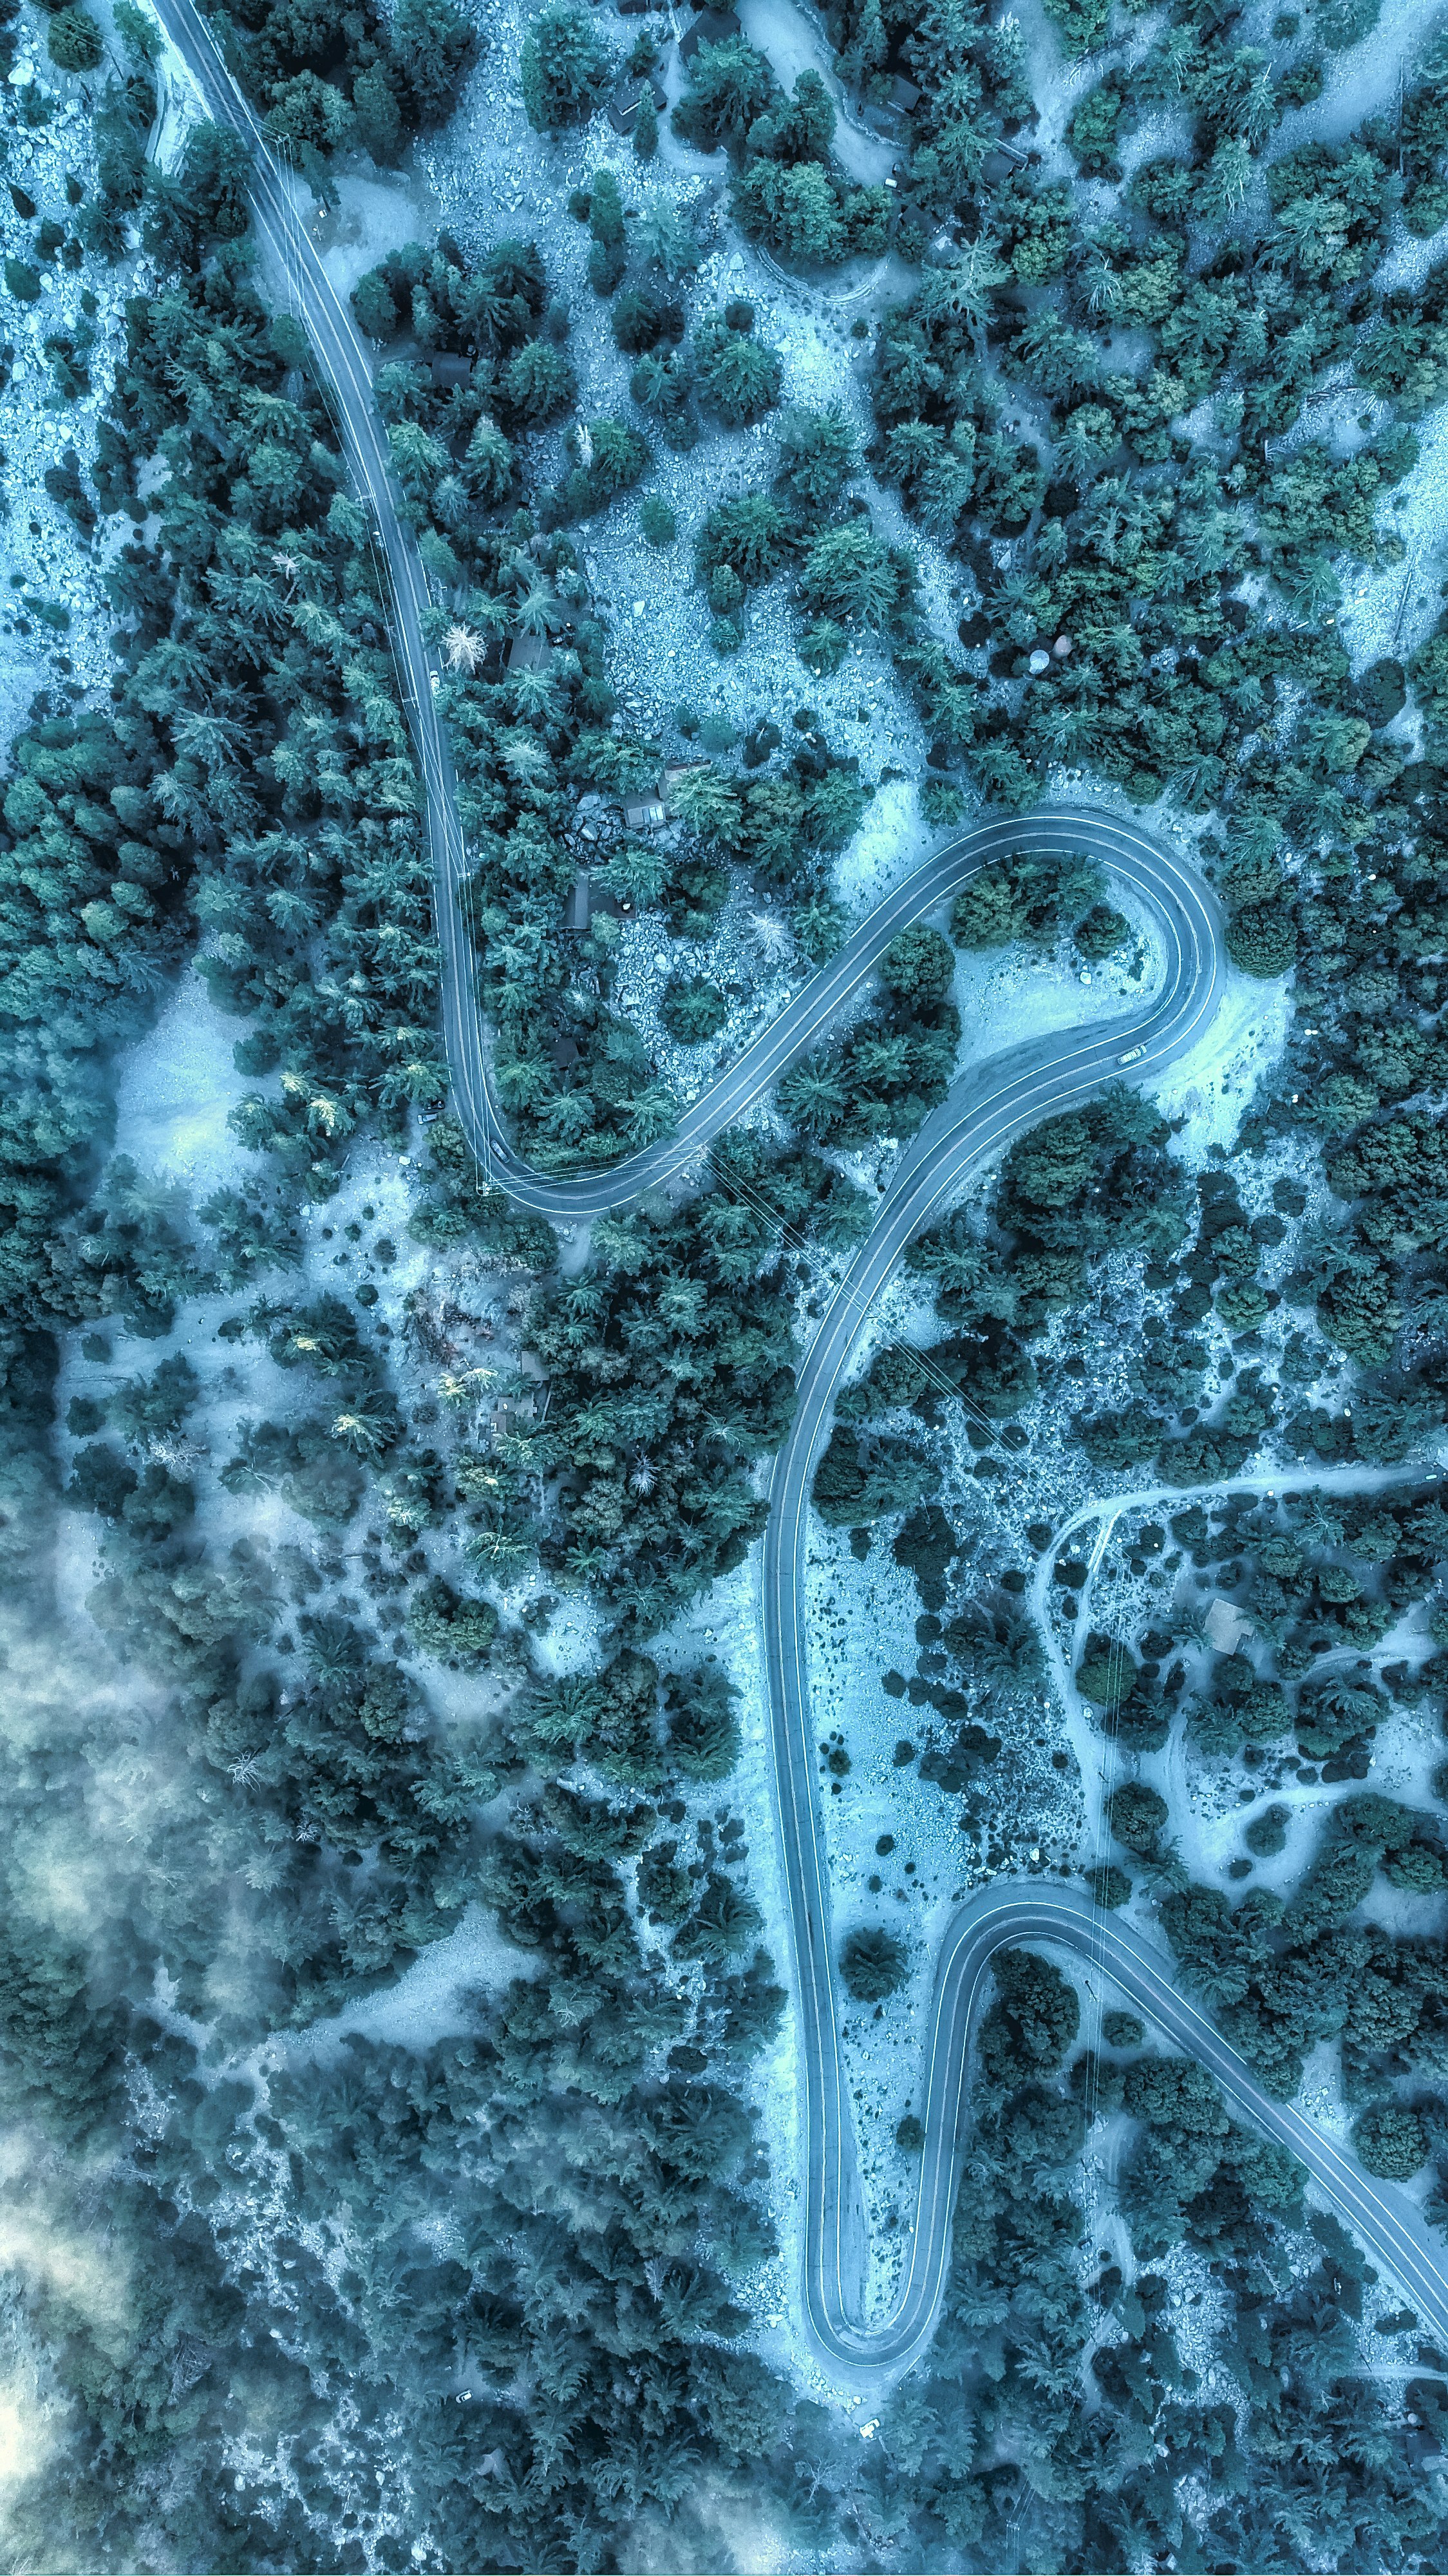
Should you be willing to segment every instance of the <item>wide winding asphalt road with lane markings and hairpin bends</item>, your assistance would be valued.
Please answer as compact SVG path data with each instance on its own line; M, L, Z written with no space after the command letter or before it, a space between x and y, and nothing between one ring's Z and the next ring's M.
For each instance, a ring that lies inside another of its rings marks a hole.
M490 1090L490 1048L459 902L466 853L448 742L433 703L441 672L423 631L428 582L397 510L386 435L371 397L371 363L307 234L294 185L273 162L206 23L191 0L152 0L152 5L201 93L206 113L234 126L252 147L252 209L263 255L286 281L291 304L312 337L319 374L338 404L358 489L374 510L394 590L397 667L428 801L443 953L443 1033L453 1100L479 1162L510 1198L549 1216L595 1216L678 1177L698 1149L765 1092L794 1056L827 1028L899 927L933 912L969 876L1007 850L1090 850L1134 889L1157 930L1165 974L1159 989L1144 997L1136 1012L1090 1033L1041 1038L971 1066L925 1123L881 1200L868 1242L824 1311L801 1368L794 1427L776 1461L765 1533L765 1654L806 2094L804 2316L819 2360L837 2383L879 2391L884 2378L897 2378L930 2344L951 2257L969 2035L992 1955L1002 1945L1023 1940L1054 1942L1095 1960L1159 2030L1211 2066L1239 2110L1301 2156L1322 2197L1360 2233L1438 2342L1448 2344L1448 2282L1440 2249L1407 2195L1373 2182L1301 2112L1273 2102L1211 2017L1180 1994L1172 1960L1149 1940L1129 1924L1103 1917L1087 1896L1036 1880L997 1880L964 1904L948 1924L928 2025L925 2151L910 2269L889 2318L863 2321L868 2249L840 2061L832 1909L814 1798L814 1718L804 1636L801 1579L814 1458L827 1435L835 1391L850 1365L863 1316L894 1275L912 1234L951 1200L961 1180L1046 1113L1098 1092L1105 1079L1126 1069L1123 1056L1131 1059L1131 1082L1144 1082L1203 1036L1221 989L1219 912L1190 868L1141 829L1113 817L1056 809L1018 822L979 824L928 858L871 912L848 948L804 987L739 1064L703 1092L672 1136L608 1172L572 1180L538 1175L523 1164Z

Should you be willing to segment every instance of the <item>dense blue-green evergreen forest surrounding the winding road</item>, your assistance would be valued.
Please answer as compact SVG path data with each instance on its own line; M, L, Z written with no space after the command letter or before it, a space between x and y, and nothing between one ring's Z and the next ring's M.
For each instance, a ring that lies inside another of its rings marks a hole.
M794 737L763 708L624 714L585 562L608 513L693 582L719 667L773 629L804 698L866 644L917 711L933 829L1028 809L1062 762L1170 799L1206 817L1237 971L1293 971L1229 1149L1193 1164L1116 1084L917 1236L938 1340L871 1352L814 1504L915 1579L917 1672L884 1674L920 1739L902 1772L920 1752L982 1868L1054 1659L1113 1783L1074 1875L1147 1909L1273 2094L1327 2043L1360 2164L1422 2177L1440 2226L1448 1762L1391 1793L1368 1772L1445 1703L1448 629L1355 672L1335 618L1358 567L1404 559L1394 500L1448 392L1448 265L1376 283L1448 216L1448 113L1425 49L1396 116L1283 139L1371 23L1260 15L1049 0L1092 75L1072 178L1033 157L1015 18L848 0L827 31L894 188L848 175L822 77L786 93L739 33L693 49L667 108L647 15L544 8L515 67L448 0L211 23L322 206L435 131L479 57L538 149L587 137L559 198L626 410L582 417L557 224L443 229L350 296L433 595L497 1095L536 1170L675 1123L621 1002L629 922L678 961L670 1038L703 1046L729 1002L701 943L745 891L801 971L827 961L879 788L809 706ZM757 2331L788 2259L757 2092L783 1958L739 1692L678 1623L763 1530L804 1296L873 1221L863 1157L958 1069L958 961L1103 969L1131 940L1110 884L1025 853L982 873L698 1188L559 1260L446 1115L386 574L263 291L245 152L206 121L170 167L147 149L160 46L131 0L113 39L80 0L13 13L8 72L21 39L44 70L5 88L8 144L59 103L88 144L64 180L44 162L49 193L10 160L5 327L80 281L88 330L36 319L36 353L67 438L93 376L103 399L44 489L116 626L106 685L57 677L18 729L0 832L10 2561L1443 2563L1448 2354L1366 2308L1363 2251L1201 2066L1033 1950L995 1963L928 2362L861 2439ZM598 121L618 80L624 155ZM1177 147L1129 155L1162 106ZM750 255L915 273L855 325L868 420L786 402L788 350L701 283L691 219L626 204L660 126L724 152ZM90 322L116 278L111 363ZM1345 368L1355 430L1319 435ZM696 451L680 544L649 482ZM925 549L971 590L956 636ZM252 1175L193 1203L113 1149L121 1069L188 961ZM381 1149L417 1180L402 1252L441 1283L405 1332L376 1311L399 1242L353 1188ZM443 1314L479 1275L487 1360ZM1056 1510L1054 1443L1087 1494L1167 1497L1095 1566L1090 1530L1038 1520L1025 1566L989 1517L1028 1453ZM1278 1492L1244 1489L1265 1463ZM70 1625L62 1566L93 1566ZM551 1620L580 1602L575 1669ZM1239 1801L1224 1870L1183 1860L1185 1780ZM1304 1788L1332 1790L1309 1826ZM495 1973L456 2027L368 2025L469 1919ZM873 2009L907 1965L871 1914L845 1994ZM897 2143L910 2169L915 2115Z

